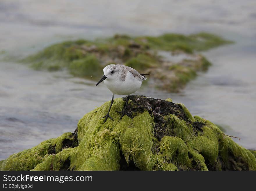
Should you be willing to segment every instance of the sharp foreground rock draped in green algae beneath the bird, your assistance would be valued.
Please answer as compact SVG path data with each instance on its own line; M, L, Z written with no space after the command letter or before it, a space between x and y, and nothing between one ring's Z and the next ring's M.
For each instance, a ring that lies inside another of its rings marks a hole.
M256 158L181 103L130 96L87 113L74 133L0 162L1 170L256 170Z

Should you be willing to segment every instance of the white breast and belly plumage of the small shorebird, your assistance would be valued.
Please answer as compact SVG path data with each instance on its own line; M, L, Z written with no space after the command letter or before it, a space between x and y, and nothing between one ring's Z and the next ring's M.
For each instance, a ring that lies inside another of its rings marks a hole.
M134 76L127 72L125 81L121 81L120 78L117 79L106 79L104 80L107 88L114 94L118 95L129 95L141 87L142 81L134 78Z

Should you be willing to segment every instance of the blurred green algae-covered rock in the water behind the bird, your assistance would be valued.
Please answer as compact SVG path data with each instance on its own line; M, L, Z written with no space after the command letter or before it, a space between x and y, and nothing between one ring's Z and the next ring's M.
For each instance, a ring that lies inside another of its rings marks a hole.
M168 33L157 37L114 35L94 41L76 40L51 45L22 60L37 70L68 69L71 74L89 79L102 76L109 63L124 64L141 73L151 73L154 86L177 92L195 78L196 72L205 71L209 61L195 51L208 50L230 41L209 33L181 35ZM163 55L179 55L173 62ZM161 81L161 83L157 83Z

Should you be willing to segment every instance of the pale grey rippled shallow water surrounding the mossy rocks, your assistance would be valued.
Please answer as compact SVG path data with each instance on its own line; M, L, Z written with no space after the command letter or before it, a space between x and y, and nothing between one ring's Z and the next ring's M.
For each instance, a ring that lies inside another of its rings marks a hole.
M96 87L65 71L34 71L5 58L22 58L63 40L114 33L207 31L236 41L203 53L213 65L182 92L170 94L145 84L136 94L182 102L192 115L241 137L234 139L237 143L256 148L255 1L43 2L0 2L0 159L74 131L85 113L111 99L104 84Z

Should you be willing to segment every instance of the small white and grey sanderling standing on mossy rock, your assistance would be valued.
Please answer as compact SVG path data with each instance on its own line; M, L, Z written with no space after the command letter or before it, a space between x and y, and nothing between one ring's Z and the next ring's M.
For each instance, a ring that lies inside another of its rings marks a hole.
M100 79L100 81L98 81L96 85L99 85L99 83L104 81L104 84L106 84L107 88L112 92L112 99L109 111L107 115L104 116L105 123L108 117L113 120L113 118L109 115L109 112L114 102L114 95L128 95L124 111L120 118L122 119L122 117L125 115L125 109L129 101L129 95L136 92L136 90L138 90L141 87L142 81L147 79L144 75L148 74L140 74L137 70L129 66L120 64L107 65L106 67L104 67L103 73L103 77Z

